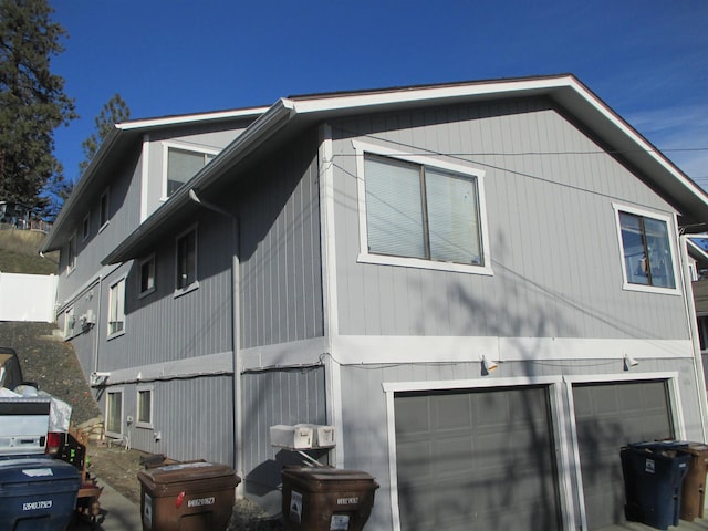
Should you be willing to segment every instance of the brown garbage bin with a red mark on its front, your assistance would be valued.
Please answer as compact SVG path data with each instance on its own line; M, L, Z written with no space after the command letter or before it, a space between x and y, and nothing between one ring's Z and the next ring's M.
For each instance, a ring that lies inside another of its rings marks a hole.
M241 482L231 467L206 461L149 468L137 477L143 531L222 531Z

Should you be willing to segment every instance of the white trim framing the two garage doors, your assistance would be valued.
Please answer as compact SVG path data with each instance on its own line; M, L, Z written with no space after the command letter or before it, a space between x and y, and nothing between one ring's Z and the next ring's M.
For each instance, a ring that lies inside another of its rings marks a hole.
M582 476L580 470L580 448L577 442L577 429L575 425L573 384L577 383L611 383L611 382L645 382L665 381L668 387L669 415L676 429L676 437L685 439L683 407L679 393L678 372L662 373L614 373L601 375L577 376L530 376L530 377L487 377L480 379L455 381L414 381L414 382L384 382L382 388L386 399L386 420L388 440L388 473L391 510L393 517L393 531L400 531L400 513L398 508L398 468L396 456L396 416L395 394L400 392L434 392L452 389L483 389L497 387L523 387L529 385L542 385L549 387L551 404L551 426L556 456L556 470L559 481L559 496L561 519L563 529L575 529L580 510L582 528L587 529L585 516L584 493L582 489ZM565 427L570 423L570 437Z

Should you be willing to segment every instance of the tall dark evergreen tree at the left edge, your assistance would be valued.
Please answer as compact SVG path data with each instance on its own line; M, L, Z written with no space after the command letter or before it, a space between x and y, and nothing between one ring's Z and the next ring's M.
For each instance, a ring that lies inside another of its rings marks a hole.
M53 12L46 0L0 0L0 200L35 209L46 206L42 188L63 181L53 131L76 117L50 70L66 34Z

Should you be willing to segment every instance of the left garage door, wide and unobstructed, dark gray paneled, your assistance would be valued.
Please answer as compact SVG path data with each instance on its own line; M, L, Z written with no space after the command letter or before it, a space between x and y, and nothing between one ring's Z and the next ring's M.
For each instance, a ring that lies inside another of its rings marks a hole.
M397 393L404 531L560 529L546 387Z

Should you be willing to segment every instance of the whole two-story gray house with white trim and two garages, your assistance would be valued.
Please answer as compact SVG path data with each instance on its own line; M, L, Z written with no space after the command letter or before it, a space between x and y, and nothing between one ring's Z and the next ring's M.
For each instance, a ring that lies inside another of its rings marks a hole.
M277 506L269 428L325 424L372 529L595 530L622 445L706 439L707 220L559 75L119 124L43 250L108 436Z

